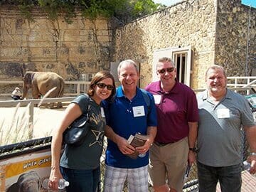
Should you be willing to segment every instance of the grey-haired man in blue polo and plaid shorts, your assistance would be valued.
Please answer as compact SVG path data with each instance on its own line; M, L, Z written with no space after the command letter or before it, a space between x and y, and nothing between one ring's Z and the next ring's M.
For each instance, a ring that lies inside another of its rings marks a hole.
M154 97L149 92L142 92L137 87L139 70L133 60L122 61L117 73L121 86L112 102L105 102L107 127L105 192L121 192L124 181L127 180L129 191L148 191L147 165L149 164L148 150L156 136L156 108ZM149 98L147 105L144 94ZM136 149L128 144L129 136L136 133L147 134L149 139L143 146ZM127 154L135 150L139 154L132 159Z

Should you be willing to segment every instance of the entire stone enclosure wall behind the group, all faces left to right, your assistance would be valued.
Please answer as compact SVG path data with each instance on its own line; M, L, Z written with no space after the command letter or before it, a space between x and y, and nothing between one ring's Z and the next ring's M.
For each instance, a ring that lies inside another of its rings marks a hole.
M28 22L18 10L0 8L0 80L21 80L26 70L79 80L82 73L109 70L110 61L129 58L140 63L144 87L155 73L155 50L187 46L193 50L193 88L205 87L206 68L214 63L229 76L245 75L246 68L247 75L256 74L256 9L240 0L184 0L119 28L105 18L78 16L67 24L51 22L40 11L32 14L35 22Z

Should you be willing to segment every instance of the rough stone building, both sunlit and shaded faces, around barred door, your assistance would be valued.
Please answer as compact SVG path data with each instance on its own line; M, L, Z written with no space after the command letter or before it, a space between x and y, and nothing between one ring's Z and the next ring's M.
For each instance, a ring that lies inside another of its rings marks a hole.
M240 0L182 1L117 28L113 60L141 63L142 87L151 82L154 50L169 47L192 47L193 88L205 87L206 68L214 63L225 66L229 76L245 75L248 10ZM251 9L249 70L256 65L255 11Z

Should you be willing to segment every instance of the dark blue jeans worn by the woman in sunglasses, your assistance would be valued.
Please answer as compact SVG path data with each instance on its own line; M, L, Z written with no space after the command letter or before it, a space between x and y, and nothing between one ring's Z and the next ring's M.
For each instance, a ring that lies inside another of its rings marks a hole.
M95 192L100 183L100 166L92 170L66 169L60 166L60 172L70 184L67 192Z

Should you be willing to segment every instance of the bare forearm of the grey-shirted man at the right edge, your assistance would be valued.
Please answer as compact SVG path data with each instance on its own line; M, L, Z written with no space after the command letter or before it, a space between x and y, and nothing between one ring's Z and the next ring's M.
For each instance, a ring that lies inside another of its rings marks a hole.
M244 129L251 152L247 159L247 161L251 164L250 174L256 174L256 126L244 127Z

